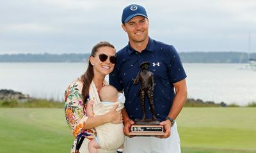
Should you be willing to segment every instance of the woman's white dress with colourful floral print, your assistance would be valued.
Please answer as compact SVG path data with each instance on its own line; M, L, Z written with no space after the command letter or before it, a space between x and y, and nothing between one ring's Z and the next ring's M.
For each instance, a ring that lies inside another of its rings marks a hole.
M65 117L67 124L72 129L72 133L76 140L72 145L71 152L75 153L77 138L84 136L88 140L92 140L95 135L95 129L84 130L86 126L86 105L83 103L82 98L83 81L79 78L72 82L65 91Z

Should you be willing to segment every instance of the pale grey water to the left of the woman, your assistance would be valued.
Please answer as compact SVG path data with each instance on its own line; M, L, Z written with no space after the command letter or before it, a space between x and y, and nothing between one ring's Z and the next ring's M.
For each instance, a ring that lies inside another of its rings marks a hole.
M68 84L86 68L86 64L68 62L0 63L0 89L62 100Z

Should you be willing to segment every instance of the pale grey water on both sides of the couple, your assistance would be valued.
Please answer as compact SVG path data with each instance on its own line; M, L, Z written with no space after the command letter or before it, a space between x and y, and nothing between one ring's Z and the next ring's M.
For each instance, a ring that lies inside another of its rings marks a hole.
M188 98L247 105L256 101L256 71L239 64L184 64ZM86 70L84 63L0 63L0 89L63 100L67 85ZM108 78L108 77L107 77Z

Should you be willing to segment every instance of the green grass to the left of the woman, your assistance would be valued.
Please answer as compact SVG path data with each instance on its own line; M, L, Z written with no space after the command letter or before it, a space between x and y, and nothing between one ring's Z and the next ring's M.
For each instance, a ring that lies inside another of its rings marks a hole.
M70 152L63 108L0 108L0 152Z

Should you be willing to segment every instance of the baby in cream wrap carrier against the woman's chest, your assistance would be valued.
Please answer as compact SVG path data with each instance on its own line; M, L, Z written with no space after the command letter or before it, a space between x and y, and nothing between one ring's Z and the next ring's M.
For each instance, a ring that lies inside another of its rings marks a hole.
M103 115L108 112L112 107L113 103L116 105L124 105L124 95L120 94L118 101L118 91L112 85L105 85L99 92L101 103L93 105L92 101L88 101L86 107L86 113L89 117ZM102 114L103 113L103 114ZM96 129L97 136L88 143L88 149L90 153L97 153L97 149L113 150L116 149L122 152L122 143L124 143L124 125L107 123L102 126L98 126ZM119 149L118 149L119 148Z

